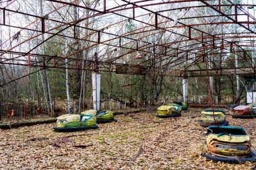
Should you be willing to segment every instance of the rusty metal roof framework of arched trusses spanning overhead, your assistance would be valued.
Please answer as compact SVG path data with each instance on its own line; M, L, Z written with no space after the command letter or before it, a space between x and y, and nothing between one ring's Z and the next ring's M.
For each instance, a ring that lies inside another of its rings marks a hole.
M202 77L207 61L211 76L256 73L253 3L43 0L41 13L39 4L0 1L1 65L65 69L68 61L77 70ZM66 54L63 40L71 49ZM77 57L85 51L88 58ZM234 54L241 67L234 66Z

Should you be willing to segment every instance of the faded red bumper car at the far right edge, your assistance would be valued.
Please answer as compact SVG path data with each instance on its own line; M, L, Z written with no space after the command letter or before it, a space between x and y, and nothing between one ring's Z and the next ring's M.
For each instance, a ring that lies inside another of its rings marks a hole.
M255 109L252 105L238 105L233 109L232 118L256 118Z

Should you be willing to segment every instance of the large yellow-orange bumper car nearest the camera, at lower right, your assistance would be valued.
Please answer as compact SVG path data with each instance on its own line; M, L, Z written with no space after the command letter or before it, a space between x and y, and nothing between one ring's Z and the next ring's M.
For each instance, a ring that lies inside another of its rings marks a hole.
M206 134L206 144L210 154L201 154L206 159L223 163L256 162L256 155L251 151L251 138L243 128L209 126Z

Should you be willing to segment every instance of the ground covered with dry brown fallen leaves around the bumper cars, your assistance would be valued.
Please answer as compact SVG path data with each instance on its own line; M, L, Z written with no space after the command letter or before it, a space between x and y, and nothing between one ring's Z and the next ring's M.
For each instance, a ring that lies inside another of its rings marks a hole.
M54 132L54 124L0 130L0 169L251 169L255 163L230 165L200 156L205 128L200 109L180 118L156 118L154 112L119 115L118 122L96 130ZM256 147L256 121L232 119ZM71 142L57 140L65 136ZM61 147L56 146L59 141Z

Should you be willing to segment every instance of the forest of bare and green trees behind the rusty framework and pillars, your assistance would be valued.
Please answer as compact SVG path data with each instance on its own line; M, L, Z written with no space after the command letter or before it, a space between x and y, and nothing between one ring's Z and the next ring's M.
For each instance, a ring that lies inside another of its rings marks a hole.
M49 11L57 9L59 6L53 5L53 3L45 3L44 1L36 1L32 5L31 1L22 1L24 3L18 4L16 7L22 9L23 11L30 11L37 15L42 15L45 18L49 17ZM97 7L100 5L99 1L76 1L77 4L85 3L84 5L90 7ZM236 3L241 3L241 1L236 1ZM191 4L197 4L193 2ZM183 5L183 4L181 4ZM232 13L232 9L226 7L226 11ZM9 11L5 11L7 15L7 21L11 23L13 19L18 16L13 15ZM170 17L180 17L183 15L189 15L193 11L185 11L184 13L168 13ZM211 10L201 10L199 11L202 15L214 13ZM82 17L87 17L94 15L94 11L84 10L73 6L73 7L63 7L53 13L57 19L65 22L70 22L77 20ZM175 16L177 15L177 16ZM151 15L143 16L145 18L152 17ZM30 17L22 17L24 23L30 23ZM211 20L211 18L206 18ZM119 24L115 24L117 21ZM225 22L225 17L219 17L218 20ZM153 19L152 19L152 22ZM200 18L197 21L200 22ZM163 22L162 25L165 23ZM67 34L75 36L78 40L71 40L68 38L63 38L61 36L55 36L46 42L48 36L40 36L38 38L32 39L28 44L20 46L19 50L30 50L41 52L42 54L51 54L56 56L69 56L72 58L78 58L81 60L95 60L94 54L98 54L100 60L111 60L111 58L116 57L116 61L123 64L136 64L139 62L144 62L148 58L154 58L150 62L146 62L148 66L157 66L159 68L164 67L168 71L172 69L177 69L181 65L189 64L195 62L195 59L202 61L203 58L193 59L190 56L188 60L184 62L179 62L177 60L182 60L185 56L178 53L175 57L170 58L170 60L162 60L156 56L156 49L150 49L152 54L142 53L142 58L139 60L135 58L135 53L129 52L127 49L117 49L113 46L95 46L91 40L96 39L96 34L93 30L82 29L86 28L98 28L98 30L108 31L108 32L119 32L121 35L126 35L131 32L135 32L141 25L138 22L132 21L131 19L121 20L121 17L91 17L86 19L84 22L77 23L75 27L66 29L62 34ZM40 26L37 26L40 27ZM53 28L54 26L49 25L48 28ZM214 30L210 26L205 26L205 32L228 32L228 30L236 30L236 26L219 26L219 29ZM11 36L16 30L6 29L0 26L1 32L1 42L3 42L7 36ZM73 32L75 31L75 34ZM173 30L177 33L183 33L183 30ZM15 46L18 42L21 42L26 36L33 36L34 32L30 30L24 30L20 34L15 34L13 38L1 46L1 50ZM135 36L129 35L129 37L137 38L138 36L148 37L148 41L157 42L158 44L164 44L168 40L172 39L174 42L176 40L181 40L180 36L177 34L166 35L166 32L162 34L154 34L154 36L149 36L148 32L135 34ZM192 32L193 36L199 36L198 32ZM102 37L104 39L106 37ZM83 40L80 40L83 39ZM38 48L33 48L34 44L39 44L43 42ZM142 42L140 42L142 43ZM173 45L174 48L179 49L179 46L185 46L184 43L177 43ZM222 42L223 43L223 42ZM123 38L121 44L126 44L125 46L135 46L134 43L130 43L129 40ZM184 47L182 47L184 48ZM186 48L186 47L185 47ZM223 47L220 49L225 51ZM79 51L79 52L77 52ZM76 52L75 54L73 54ZM200 52L198 52L200 53ZM120 57L123 56L123 57ZM238 52L237 57L239 62L236 64L234 61L228 61L229 59L234 59L236 56L234 54L228 54L226 56L216 55L212 56L212 60L222 60L222 62L215 62L214 66L209 64L210 67L247 67L250 63L247 58L251 58L253 54L247 52ZM12 54L6 54L5 58L13 57ZM3 60L3 58L1 58ZM53 65L51 62L42 61L38 58L34 59L36 62L44 62L43 65ZM83 65L84 62L78 63L78 65ZM50 112L53 110L55 104L58 101L64 101L65 111L70 112L70 103L76 103L76 108L78 110L83 110L84 108L92 108L92 82L91 73L86 69L83 70L72 70L68 69L69 60L66 59L65 63L66 69L47 69L42 67L22 67L16 65L0 65L0 103L46 103L46 108ZM193 66L194 68L200 67L205 69L204 63L198 63ZM102 74L102 85L100 90L101 99L104 101L115 101L129 105L130 107L142 107L149 105L158 105L160 103L166 103L172 100L182 100L182 79L179 77L171 77L160 75L158 71L154 71L150 75L119 75L116 73L101 72ZM23 77L20 79L20 77ZM189 80L189 103L207 103L209 89L207 85L207 77L191 77ZM240 82L240 83L237 83ZM212 87L212 93L214 95L214 103L238 103L245 102L245 79L243 77L223 76L223 77L211 77L210 84Z

